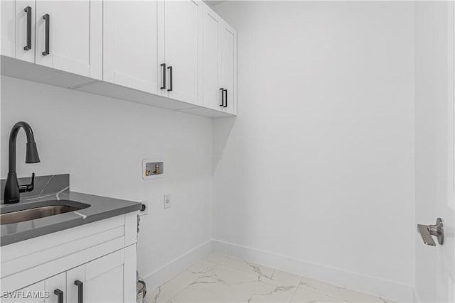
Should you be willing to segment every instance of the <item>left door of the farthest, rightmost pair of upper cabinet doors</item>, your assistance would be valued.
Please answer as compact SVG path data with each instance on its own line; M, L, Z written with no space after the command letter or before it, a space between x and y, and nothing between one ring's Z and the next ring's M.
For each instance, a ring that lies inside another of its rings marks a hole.
M204 4L203 18L203 105L210 109L223 109L223 89L218 76L220 61L220 28L223 21Z

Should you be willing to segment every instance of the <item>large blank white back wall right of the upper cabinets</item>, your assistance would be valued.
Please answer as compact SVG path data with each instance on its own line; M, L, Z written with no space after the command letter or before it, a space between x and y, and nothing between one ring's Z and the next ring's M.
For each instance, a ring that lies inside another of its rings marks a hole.
M239 106L235 121L213 123L213 238L409 301L413 4L228 1L215 10L238 31Z

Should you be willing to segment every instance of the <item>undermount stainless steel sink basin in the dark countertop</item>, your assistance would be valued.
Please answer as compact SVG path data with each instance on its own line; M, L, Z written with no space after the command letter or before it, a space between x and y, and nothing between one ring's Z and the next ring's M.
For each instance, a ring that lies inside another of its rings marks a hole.
M0 208L0 224L14 224L46 216L65 214L70 211L86 209L89 206L90 204L71 200L48 200L23 204L19 202L18 204L2 205Z

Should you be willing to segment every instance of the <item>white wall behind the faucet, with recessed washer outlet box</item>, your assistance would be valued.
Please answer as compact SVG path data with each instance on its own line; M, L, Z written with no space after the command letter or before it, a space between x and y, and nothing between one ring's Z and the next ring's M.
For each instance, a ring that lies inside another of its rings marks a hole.
M210 240L210 119L1 76L1 178L17 121L32 126L41 158L24 163L26 141L19 133L19 177L70 173L75 192L149 199L139 232L142 276ZM164 159L166 177L142 180L144 158ZM171 209L163 207L164 194L171 194Z

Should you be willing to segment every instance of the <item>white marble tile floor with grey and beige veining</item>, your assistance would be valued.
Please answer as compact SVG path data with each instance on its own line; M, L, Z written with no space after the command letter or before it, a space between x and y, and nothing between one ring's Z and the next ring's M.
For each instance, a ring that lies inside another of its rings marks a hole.
M146 302L391 301L212 253L156 290L147 292Z

